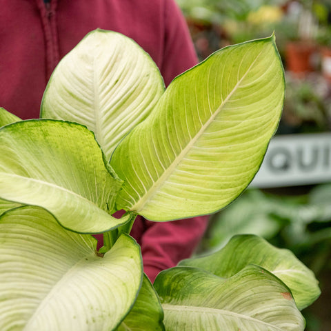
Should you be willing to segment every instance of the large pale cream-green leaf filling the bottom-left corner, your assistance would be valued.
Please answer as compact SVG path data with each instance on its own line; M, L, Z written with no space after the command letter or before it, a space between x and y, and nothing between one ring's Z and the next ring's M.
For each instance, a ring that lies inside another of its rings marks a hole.
M109 331L137 297L139 245L122 234L99 257L88 234L63 229L38 207L0 219L0 330Z

